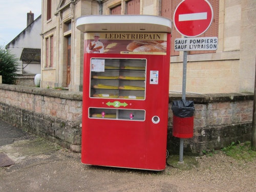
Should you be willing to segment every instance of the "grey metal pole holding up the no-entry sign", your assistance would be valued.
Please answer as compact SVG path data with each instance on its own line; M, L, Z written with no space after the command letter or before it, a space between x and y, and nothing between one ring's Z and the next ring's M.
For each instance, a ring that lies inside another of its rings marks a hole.
M186 103L186 76L187 76L187 51L184 51L184 53L183 53L183 76L182 76L182 98L181 98L184 104ZM180 138L180 156L179 156L180 163L183 163L183 145L184 145L184 139Z

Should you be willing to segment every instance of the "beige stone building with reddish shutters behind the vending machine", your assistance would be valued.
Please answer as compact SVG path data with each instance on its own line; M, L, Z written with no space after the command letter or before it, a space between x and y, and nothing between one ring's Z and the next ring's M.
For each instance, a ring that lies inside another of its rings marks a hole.
M214 20L204 36L217 36L217 51L187 56L186 91L241 93L254 91L256 2L207 0ZM144 14L173 19L181 0L42 0L41 87L82 91L83 34L76 19L94 14ZM173 39L181 37L173 26ZM173 46L172 46L173 47ZM169 91L182 91L183 52L172 51Z

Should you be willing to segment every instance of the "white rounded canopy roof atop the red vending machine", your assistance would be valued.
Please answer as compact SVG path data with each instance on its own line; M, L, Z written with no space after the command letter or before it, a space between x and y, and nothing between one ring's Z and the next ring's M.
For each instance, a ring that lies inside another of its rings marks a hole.
M76 28L86 32L172 32L172 21L154 15L86 15Z

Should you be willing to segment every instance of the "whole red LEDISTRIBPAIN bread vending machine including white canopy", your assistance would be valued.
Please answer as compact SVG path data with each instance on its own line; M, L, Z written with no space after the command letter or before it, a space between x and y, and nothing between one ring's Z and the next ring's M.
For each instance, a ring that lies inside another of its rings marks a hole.
M88 15L84 32L81 162L163 170L172 22Z

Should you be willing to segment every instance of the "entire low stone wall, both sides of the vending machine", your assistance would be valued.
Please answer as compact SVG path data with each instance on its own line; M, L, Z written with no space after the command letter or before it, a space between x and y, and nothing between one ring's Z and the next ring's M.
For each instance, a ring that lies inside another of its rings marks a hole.
M172 136L172 101L169 95L167 149L179 152L179 138ZM195 102L194 137L184 140L184 154L202 154L231 142L250 140L253 93L190 94ZM23 130L80 152L82 92L57 91L0 84L0 118Z

